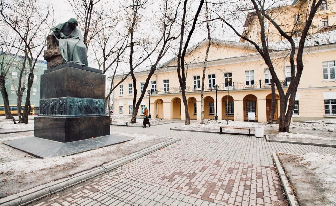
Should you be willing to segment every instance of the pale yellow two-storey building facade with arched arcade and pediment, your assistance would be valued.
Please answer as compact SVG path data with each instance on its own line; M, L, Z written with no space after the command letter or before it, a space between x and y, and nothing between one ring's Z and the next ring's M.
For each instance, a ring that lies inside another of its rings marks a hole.
M293 121L336 118L336 31L323 32L321 35L323 38L318 43L309 42L304 49L304 70L295 97ZM185 59L189 62L185 91L192 120L201 119L201 78L207 44L204 41L191 48L192 52ZM285 91L290 83L288 56L289 51L286 49L271 53ZM137 85L133 85L129 77L114 90L115 114L132 114L133 87L136 86L140 96L148 70L134 72L134 75ZM115 83L121 77L116 76ZM205 75L205 118L214 119L217 114L218 120L228 118L246 121L248 113L254 112L256 121L266 122L271 108L270 82L271 75L254 46L243 42L214 40ZM214 85L219 86L217 95ZM152 118L185 120L175 59L156 70L146 90L151 90L150 99L146 96L141 102L139 116L144 107L150 106ZM280 111L278 94L276 99L275 120Z

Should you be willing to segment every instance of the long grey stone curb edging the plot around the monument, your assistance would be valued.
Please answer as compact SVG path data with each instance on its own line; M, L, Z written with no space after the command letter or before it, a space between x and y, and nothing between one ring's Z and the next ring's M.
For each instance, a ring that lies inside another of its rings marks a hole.
M0 206L21 206L27 205L34 201L37 201L43 197L54 194L91 178L94 178L103 173L107 173L112 169L119 167L129 161L142 157L146 154L154 152L160 148L166 147L170 144L180 141L180 138L171 138L170 140L164 141L162 143L153 145L149 148L142 149L138 152L132 153L125 157L113 160L108 163L104 163L100 166L93 167L89 170L82 171L73 175L72 177L62 178L56 181L46 183L44 185L37 186L35 188L16 193L0 199Z

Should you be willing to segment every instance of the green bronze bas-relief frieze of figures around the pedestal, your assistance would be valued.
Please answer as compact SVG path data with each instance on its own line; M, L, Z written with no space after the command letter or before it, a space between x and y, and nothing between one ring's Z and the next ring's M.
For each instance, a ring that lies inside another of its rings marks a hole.
M91 98L53 98L40 100L40 115L103 115L105 100Z

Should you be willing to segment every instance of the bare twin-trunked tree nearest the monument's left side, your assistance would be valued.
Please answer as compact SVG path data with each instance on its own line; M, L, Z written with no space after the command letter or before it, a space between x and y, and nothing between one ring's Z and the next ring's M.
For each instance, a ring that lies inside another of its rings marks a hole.
M24 56L22 72L19 76L19 86L17 88L19 94L25 90L20 85L23 71L26 67L29 71L25 108L22 119L19 116L19 123L28 124L28 115L31 111L30 92L34 80L34 69L44 49L46 33L49 30L46 21L50 14L50 8L49 5L44 5L39 5L33 0L17 0L14 2L0 0L1 21L6 29L9 30L9 33L15 34L18 37L17 42L7 43L6 45L20 50L20 53ZM19 96L18 100L21 100ZM19 113L21 111L21 102L18 101L17 103Z

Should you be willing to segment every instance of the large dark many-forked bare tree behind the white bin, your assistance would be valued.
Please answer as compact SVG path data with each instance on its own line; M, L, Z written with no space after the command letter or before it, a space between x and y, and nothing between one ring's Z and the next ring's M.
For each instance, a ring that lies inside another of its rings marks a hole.
M257 22L260 26L260 36L259 41L261 42L261 46L252 38L249 38L248 35L246 35L246 32L241 34L238 30L238 27L234 25L229 20L225 19L224 16L220 16L215 19L220 19L224 24L226 24L228 27L230 27L237 36L239 36L241 39L251 43L254 45L254 47L257 49L258 53L263 58L265 64L267 65L270 74L272 75L272 80L274 81L275 85L277 86L279 95L280 95L280 116L279 116L279 132L289 132L290 130L290 121L292 118L293 110L294 110L294 101L295 101L295 94L298 88L298 84L300 81L300 77L303 71L303 50L305 45L305 40L307 37L307 34L311 27L311 22L315 16L316 11L321 5L322 0L311 0L309 2L307 1L299 1L299 3L310 3L310 5L307 5L305 8L305 11L301 11L303 14L301 17L305 17L305 21L301 23L301 26L298 27L296 23L294 25L289 25L292 27L292 29L288 32L284 29L285 26L288 26L281 22L276 22L276 18L272 17L272 11L273 10L267 10L265 4L269 3L265 0L251 0L252 8L247 7L246 10L253 10ZM237 10L236 12L242 11L241 9ZM235 16L235 14L233 14ZM232 17L232 16L231 16ZM212 20L215 20L212 19ZM280 81L279 77L276 74L275 66L274 66L274 60L271 58L271 52L272 50L268 47L268 33L265 31L265 21L270 22L272 26L276 28L276 31L278 32L278 35L281 36L285 41L288 41L289 43L289 61L290 61L290 68L291 68L291 81L288 86L287 92L284 91L283 84ZM295 44L294 37L296 37L297 31L301 31L298 44ZM295 63L297 66L297 71L295 74Z

